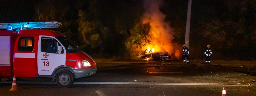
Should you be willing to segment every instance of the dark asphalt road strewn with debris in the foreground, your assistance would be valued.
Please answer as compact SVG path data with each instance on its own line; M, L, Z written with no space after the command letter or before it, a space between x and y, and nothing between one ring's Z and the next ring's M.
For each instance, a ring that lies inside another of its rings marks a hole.
M0 96L256 96L255 67L169 63L98 63L94 76L60 88L49 78L20 78L18 91L6 78Z

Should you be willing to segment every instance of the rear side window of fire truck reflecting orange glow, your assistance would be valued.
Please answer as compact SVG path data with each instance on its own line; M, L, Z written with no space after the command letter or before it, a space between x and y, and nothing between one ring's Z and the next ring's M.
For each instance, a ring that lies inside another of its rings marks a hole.
M34 37L20 37L18 43L18 51L33 51L34 49Z

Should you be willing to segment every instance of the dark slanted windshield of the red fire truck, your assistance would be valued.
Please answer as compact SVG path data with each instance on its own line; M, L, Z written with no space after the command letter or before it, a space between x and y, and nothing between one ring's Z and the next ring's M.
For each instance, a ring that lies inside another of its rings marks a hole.
M61 44L66 49L66 53L75 53L75 52L81 52L81 50L71 41L68 40L67 37L56 37Z

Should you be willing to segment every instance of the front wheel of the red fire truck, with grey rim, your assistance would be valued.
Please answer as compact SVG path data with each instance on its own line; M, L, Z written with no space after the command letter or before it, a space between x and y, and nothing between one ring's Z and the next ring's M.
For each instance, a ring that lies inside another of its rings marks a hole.
M74 75L68 70L62 70L56 76L56 83L62 88L67 88L74 83Z

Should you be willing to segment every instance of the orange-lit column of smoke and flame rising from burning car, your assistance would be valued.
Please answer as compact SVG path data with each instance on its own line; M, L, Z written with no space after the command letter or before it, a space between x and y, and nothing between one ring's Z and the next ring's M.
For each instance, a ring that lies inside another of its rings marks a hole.
M165 21L166 15L160 11L162 0L144 0L145 13L142 16L142 24L149 24L148 35L151 37L151 44L145 47L155 48L155 52L168 52L179 58L179 50L173 48L173 30Z

